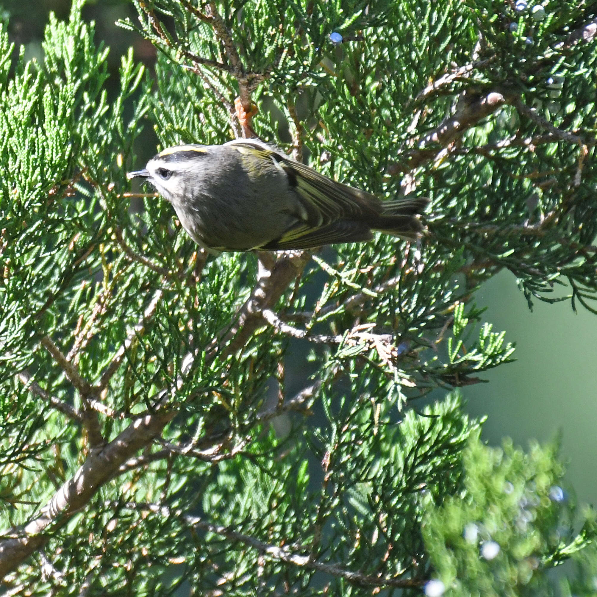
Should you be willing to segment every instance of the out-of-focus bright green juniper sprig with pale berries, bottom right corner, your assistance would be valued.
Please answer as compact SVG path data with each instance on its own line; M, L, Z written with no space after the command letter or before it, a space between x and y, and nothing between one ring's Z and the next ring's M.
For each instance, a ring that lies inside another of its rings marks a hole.
M528 453L472 438L463 453L464 488L423 524L430 558L446 595L549 595L543 572L581 553L580 595L595 591L592 515L574 536L575 507L559 487L564 469L555 447ZM590 538L589 538L590 537ZM583 553L582 550L585 550ZM593 573L594 574L594 573Z

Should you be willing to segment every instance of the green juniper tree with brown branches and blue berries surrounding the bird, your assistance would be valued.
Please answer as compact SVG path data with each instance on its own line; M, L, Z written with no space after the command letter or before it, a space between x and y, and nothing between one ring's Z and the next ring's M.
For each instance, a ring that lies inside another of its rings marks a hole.
M134 5L158 61L110 101L81 0L42 62L0 31L5 594L544 595L570 558L594 594L556 447L485 446L457 388L512 359L500 270L596 312L596 7ZM150 125L428 196L426 233L210 256L125 179Z

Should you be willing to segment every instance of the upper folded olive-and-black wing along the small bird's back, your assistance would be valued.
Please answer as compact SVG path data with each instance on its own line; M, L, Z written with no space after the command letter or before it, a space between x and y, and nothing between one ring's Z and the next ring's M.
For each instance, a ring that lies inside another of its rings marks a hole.
M241 153L269 159L284 171L288 184L296 190L310 228L327 226L344 218L360 219L379 213L381 202L375 196L328 179L266 145L251 141L233 141L229 145ZM289 230L288 233L294 232Z

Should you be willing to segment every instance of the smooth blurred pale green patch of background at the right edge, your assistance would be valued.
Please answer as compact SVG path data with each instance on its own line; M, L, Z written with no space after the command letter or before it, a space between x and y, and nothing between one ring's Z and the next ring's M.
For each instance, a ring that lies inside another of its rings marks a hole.
M475 296L487 306L485 321L506 330L516 342L516 362L485 376L490 383L463 388L467 410L487 414L484 438L498 444L504 435L527 446L562 432L567 480L578 500L597 501L597 315L570 301L534 302L530 312L516 279L501 272Z

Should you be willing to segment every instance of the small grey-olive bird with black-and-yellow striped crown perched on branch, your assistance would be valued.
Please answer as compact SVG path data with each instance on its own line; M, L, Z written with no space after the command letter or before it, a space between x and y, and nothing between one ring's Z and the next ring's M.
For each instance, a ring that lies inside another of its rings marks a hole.
M415 239L423 230L415 216L429 201L380 201L253 139L168 147L127 177L151 183L211 251L368 241L371 230Z

